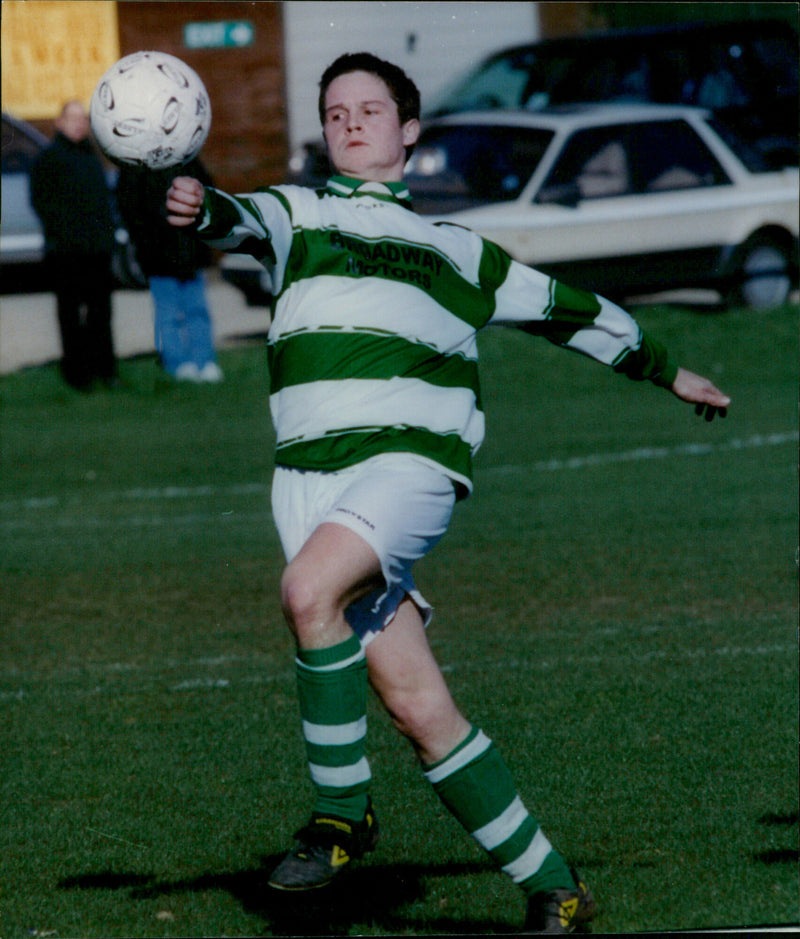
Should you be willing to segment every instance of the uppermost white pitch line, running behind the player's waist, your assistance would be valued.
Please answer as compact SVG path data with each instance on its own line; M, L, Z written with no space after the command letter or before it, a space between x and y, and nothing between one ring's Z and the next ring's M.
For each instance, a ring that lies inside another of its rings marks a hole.
M476 475L504 475L513 472L558 472L564 469L583 469L591 466L603 466L614 463L632 463L637 461L663 460L673 456L708 456L713 453L732 453L740 450L754 450L762 447L775 447L787 443L797 443L800 440L798 431L775 434L755 434L752 437L733 438L722 443L684 443L674 447L640 447L636 450L623 450L621 452L590 453L586 456L569 457L567 459L537 460L534 463L509 463L504 466L480 467ZM153 488L126 489L121 492L92 493L87 489L85 495L75 494L63 498L60 496L34 496L28 499L11 499L0 502L0 512L20 512L32 509L53 509L61 505L80 504L85 499L98 502L163 502L172 499L193 499L203 496L262 496L270 490L270 483L238 483L230 486L163 486ZM212 518L220 513L212 513L202 518ZM225 514L225 513L221 513ZM190 516L196 521L200 516ZM175 521L174 519L170 521ZM91 526L98 524L96 520L76 520L74 524ZM130 520L128 520L130 523ZM153 524L152 519L139 520L141 524ZM108 524L107 520L104 520ZM6 522L4 527L14 527L14 523Z

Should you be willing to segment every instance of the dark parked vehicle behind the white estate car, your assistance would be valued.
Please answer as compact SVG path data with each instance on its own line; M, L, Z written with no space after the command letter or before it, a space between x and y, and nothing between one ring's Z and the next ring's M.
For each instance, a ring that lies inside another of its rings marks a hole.
M427 103L464 111L639 102L713 111L774 168L798 164L798 36L788 21L745 20L619 30L513 46L488 56ZM321 140L291 157L288 181L324 185Z

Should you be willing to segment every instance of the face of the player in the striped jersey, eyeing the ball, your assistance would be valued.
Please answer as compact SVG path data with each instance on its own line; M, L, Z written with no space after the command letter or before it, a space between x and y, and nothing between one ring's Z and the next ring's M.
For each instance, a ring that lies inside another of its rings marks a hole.
M419 121L400 124L397 104L377 75L347 72L325 93L323 132L338 173L370 182L399 182L405 147L416 143Z

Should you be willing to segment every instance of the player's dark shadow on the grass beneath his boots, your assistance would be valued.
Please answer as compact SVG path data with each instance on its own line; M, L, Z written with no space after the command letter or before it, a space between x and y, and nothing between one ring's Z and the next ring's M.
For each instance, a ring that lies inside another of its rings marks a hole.
M147 874L95 873L67 877L61 890L127 890L135 900L150 900L176 893L224 890L242 908L259 916L277 935L346 935L353 929L379 927L383 930L435 930L456 935L513 933L513 913L505 921L458 919L425 920L403 916L401 908L423 900L425 881L431 877L463 877L492 871L480 863L392 864L361 867L347 872L335 887L293 895L267 886L269 872L282 855L263 857L251 870L201 874L185 880L158 880ZM520 908L521 914L521 908Z

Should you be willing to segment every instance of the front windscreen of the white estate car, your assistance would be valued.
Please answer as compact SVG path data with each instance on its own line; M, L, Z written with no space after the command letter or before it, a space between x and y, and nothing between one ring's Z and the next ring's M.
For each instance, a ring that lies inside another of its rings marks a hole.
M454 212L516 199L553 139L542 128L429 127L409 161L406 182L418 212Z

